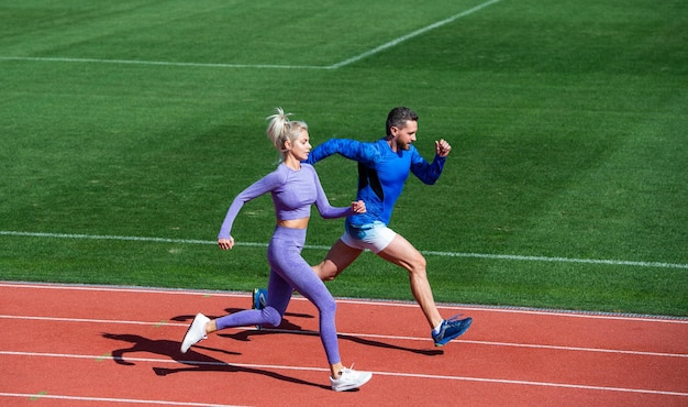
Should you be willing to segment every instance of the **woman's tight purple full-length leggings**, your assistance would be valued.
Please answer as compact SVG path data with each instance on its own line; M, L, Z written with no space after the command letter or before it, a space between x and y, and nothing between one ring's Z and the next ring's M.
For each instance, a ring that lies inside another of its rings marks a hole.
M341 362L340 345L336 338L334 315L336 302L324 283L310 265L301 257L306 242L306 229L275 228L275 233L267 246L267 261L270 265L270 278L267 285L268 296L264 309L247 309L215 320L218 329L270 324L278 327L287 310L291 293L298 290L315 305L320 312L320 340L325 348L330 364Z

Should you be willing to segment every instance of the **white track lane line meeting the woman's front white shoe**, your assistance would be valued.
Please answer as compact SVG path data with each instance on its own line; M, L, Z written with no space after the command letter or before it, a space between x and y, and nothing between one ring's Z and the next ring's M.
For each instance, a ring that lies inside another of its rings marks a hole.
M98 360L98 361L114 360L113 356L69 354L69 353L37 353L37 352L9 352L9 351L0 351L0 355L27 356L27 358L86 359L86 360ZM228 366L228 367L244 367L244 369L252 369L252 370L328 372L326 369L309 367L309 366L248 364L248 363L225 363L225 362L201 362L201 361L174 361L174 360L169 360L169 359L157 359L157 358L126 358L126 360L130 361L130 362L184 364L185 366L192 365L192 366L199 366L201 369L202 369L202 366ZM451 375L420 374L420 373L395 373L395 372L380 372L380 371L374 371L373 374L381 375L381 376L396 376L396 377L413 377L413 378L444 380L444 381L459 381L459 382L498 383L498 384L512 384L512 385L522 385L522 386L562 387L562 388L576 388L576 389L598 391L598 392L619 392L619 393L635 393L635 394L640 393L640 394L650 394L650 395L688 397L688 393L653 391L653 389L646 389L646 388L590 386L590 385L567 384L567 383L514 381L514 380L491 378L491 377L451 376ZM2 394L0 394L0 395L2 395Z

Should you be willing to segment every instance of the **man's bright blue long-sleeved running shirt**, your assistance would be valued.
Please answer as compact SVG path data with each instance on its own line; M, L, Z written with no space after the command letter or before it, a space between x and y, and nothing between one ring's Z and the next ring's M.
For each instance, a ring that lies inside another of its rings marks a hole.
M358 163L356 196L366 204L366 213L349 216L346 221L351 224L373 223L376 220L389 224L409 173L431 185L440 178L446 161L435 155L432 164L428 163L413 145L409 150L393 152L385 139L377 142L330 139L313 148L306 162L315 164L333 154Z

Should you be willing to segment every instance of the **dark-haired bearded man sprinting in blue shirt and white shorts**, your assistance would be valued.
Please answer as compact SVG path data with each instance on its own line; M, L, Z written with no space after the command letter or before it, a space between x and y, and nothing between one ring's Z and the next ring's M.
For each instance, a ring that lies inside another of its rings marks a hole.
M366 213L346 218L345 232L334 243L325 258L313 271L323 280L334 279L351 265L364 250L406 268L413 298L420 305L432 329L432 339L442 346L466 332L471 318L443 319L437 310L428 280L425 258L402 235L387 224L409 173L428 185L434 184L442 174L446 156L452 146L445 141L435 141L435 158L428 163L415 150L418 114L413 110L398 107L387 117L387 135L373 143L346 139L331 139L315 147L307 163L314 164L330 155L340 154L358 163L357 200L366 204ZM263 289L254 292L254 306L260 307Z

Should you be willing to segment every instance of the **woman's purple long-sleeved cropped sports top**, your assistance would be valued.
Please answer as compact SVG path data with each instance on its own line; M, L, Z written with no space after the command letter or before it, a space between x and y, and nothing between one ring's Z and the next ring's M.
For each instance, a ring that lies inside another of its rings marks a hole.
M277 169L240 193L228 210L218 239L230 239L232 224L244 204L266 193L273 195L277 220L293 220L311 216L311 205L315 204L324 219L343 218L354 215L351 207L330 206L320 178L312 165L302 163L301 169L291 169L285 163Z

